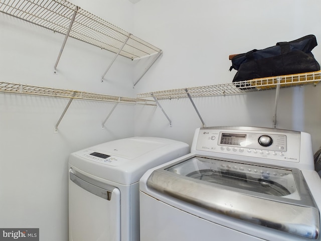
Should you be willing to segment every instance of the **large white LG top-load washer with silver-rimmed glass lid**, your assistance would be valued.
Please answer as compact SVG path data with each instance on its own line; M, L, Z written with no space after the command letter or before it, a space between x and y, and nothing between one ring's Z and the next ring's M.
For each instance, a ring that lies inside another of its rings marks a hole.
M321 240L320 194L309 134L200 128L140 179L140 240Z

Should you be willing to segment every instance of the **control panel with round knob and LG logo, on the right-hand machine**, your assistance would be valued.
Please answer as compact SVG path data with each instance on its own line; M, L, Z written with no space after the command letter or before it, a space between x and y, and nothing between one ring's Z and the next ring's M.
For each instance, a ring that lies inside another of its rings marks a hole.
M222 153L299 162L300 132L273 130L201 128L196 152L206 151L214 156L215 153Z

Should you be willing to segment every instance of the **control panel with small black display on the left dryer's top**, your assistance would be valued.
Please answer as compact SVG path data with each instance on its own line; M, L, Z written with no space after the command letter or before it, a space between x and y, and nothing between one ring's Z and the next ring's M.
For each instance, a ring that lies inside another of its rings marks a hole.
M105 164L109 166L119 166L128 161L125 158L110 156L108 154L91 149L79 151L76 153L76 155L86 160L98 162L100 164Z

